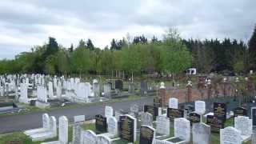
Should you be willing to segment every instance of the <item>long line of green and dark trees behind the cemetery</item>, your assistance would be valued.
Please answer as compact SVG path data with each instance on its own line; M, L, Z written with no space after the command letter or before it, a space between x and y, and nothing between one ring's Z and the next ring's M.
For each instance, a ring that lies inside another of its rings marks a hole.
M78 46L66 48L55 38L42 46L34 46L14 59L0 61L0 73L40 74L178 74L190 67L199 72L230 70L245 72L256 68L256 28L248 42L218 39L182 39L176 29L169 29L162 40L144 35L113 39L110 47L95 47L80 40Z

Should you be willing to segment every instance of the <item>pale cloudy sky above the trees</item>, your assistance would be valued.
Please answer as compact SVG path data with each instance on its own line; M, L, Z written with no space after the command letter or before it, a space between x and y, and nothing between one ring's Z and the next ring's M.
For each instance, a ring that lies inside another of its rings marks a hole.
M66 47L90 38L104 48L127 34L161 39L170 27L182 38L248 41L255 6L255 0L2 0L0 59L43 45L49 37Z

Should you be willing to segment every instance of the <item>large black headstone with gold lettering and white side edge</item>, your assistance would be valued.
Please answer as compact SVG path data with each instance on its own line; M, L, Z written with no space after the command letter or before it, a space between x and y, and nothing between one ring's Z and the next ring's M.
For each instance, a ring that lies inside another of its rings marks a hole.
M126 114L120 116L119 124L120 138L125 139L128 142L135 142L137 137L137 119Z

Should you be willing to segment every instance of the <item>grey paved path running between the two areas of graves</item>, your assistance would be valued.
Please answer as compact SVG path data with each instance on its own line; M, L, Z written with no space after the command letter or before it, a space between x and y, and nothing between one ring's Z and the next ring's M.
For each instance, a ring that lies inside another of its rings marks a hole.
M86 115L86 119L94 118L95 114L104 114L105 106L113 106L114 110L128 111L132 104L143 106L144 104L153 104L153 98L143 98L127 102L104 102L90 106L81 106L70 109L58 109L48 112L50 116L58 117L65 115L69 122L73 122L75 115ZM14 131L29 130L42 127L42 114L44 112L36 112L32 114L8 115L0 116L0 134L10 133Z

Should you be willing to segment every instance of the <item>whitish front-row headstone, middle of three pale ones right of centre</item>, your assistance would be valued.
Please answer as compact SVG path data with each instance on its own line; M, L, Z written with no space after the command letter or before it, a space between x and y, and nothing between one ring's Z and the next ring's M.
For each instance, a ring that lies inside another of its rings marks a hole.
M175 118L174 137L190 142L190 121L186 118Z

